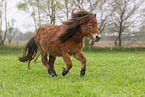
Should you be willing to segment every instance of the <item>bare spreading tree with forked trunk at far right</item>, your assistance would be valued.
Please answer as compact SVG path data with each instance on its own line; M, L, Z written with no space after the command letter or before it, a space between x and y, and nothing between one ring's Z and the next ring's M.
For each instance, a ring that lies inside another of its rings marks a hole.
M142 3L143 1L141 0L111 0L112 10L114 10L112 21L114 26L119 28L115 45L117 45L117 40L119 40L119 46L121 46L121 35L124 30L135 27L137 24L137 19L139 18L137 12Z

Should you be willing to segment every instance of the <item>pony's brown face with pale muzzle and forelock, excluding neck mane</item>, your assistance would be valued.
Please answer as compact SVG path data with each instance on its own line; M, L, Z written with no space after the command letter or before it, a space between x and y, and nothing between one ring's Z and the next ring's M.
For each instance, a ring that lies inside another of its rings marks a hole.
M72 10L72 18L79 18L79 24L81 32L84 36L98 42L101 38L100 32L98 30L98 23L96 20L96 14L87 12L85 10L80 10L74 13Z

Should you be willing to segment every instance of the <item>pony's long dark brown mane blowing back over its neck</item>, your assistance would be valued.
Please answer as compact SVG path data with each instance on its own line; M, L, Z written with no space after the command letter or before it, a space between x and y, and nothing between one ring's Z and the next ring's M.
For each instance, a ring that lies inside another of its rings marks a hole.
M75 9L72 10L71 19L63 22L63 33L58 37L58 40L61 42L65 42L70 39L78 30L80 30L80 25L89 21L92 17L95 17L93 13L86 10L80 10L73 13L74 10Z

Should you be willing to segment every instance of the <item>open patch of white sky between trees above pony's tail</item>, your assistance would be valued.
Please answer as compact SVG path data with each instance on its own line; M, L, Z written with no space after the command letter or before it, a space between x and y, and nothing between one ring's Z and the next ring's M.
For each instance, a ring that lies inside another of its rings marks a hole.
M7 21L14 19L16 22L14 27L17 27L21 32L25 33L27 31L34 31L33 19L28 13L20 11L17 9L16 4L21 0L8 0L7 4ZM3 30L5 30L5 22L3 18Z

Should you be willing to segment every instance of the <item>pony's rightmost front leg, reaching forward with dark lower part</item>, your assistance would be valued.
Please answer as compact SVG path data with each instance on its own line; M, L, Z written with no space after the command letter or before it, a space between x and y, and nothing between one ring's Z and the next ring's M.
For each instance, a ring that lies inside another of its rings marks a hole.
M84 57L82 52L79 52L77 54L74 55L74 57L81 61L81 72L80 72L80 76L84 76L85 75L85 71L86 71L86 58Z

